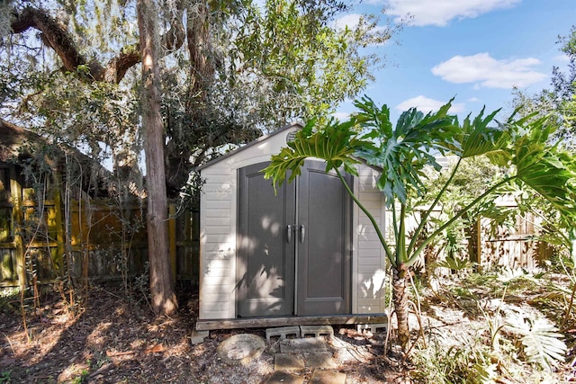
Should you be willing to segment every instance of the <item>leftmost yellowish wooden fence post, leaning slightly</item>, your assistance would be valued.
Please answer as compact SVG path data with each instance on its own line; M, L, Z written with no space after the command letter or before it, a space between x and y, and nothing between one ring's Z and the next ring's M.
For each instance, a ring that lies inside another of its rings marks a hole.
M14 166L10 167L10 197L12 198L12 215L14 226L14 253L16 254L16 275L20 290L26 289L26 260L24 259L24 246L22 241L23 210L22 210L22 185L16 180Z

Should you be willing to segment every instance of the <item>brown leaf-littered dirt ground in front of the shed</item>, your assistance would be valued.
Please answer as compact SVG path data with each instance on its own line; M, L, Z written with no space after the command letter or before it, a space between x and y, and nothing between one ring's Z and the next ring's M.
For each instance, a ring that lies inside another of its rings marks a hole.
M146 303L135 303L111 286L94 287L79 297L84 299L71 303L54 291L43 293L40 311L27 300L26 328L17 296L0 303L0 383L262 383L274 371L278 342L267 344L260 357L244 366L229 366L216 353L230 335L264 337L264 329L212 331L202 344L193 345L198 304L193 290L180 292L180 310L173 318L154 317ZM478 325L459 307L430 300L420 322L462 340L465 329ZM338 327L335 333L335 342L354 357L338 366L348 384L417 382L410 380L413 366L390 353L383 359L383 335ZM563 367L554 382L572 381L571 370ZM305 378L310 374L305 372Z

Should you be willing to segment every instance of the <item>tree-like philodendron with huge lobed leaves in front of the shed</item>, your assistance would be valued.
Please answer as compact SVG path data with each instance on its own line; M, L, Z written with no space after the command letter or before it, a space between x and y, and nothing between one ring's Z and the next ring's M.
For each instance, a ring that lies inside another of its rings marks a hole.
M394 127L386 105L377 106L370 98L356 101L357 112L347 121L328 121L318 124L310 121L300 130L264 170L266 178L280 185L287 171L292 171L289 182L300 174L307 157L326 161L326 172L334 170L340 177L359 209L371 220L383 249L394 270L392 295L394 313L398 322L398 337L404 352L410 350L409 307L407 287L410 268L435 237L443 233L456 219L476 208L486 197L507 183L521 183L539 193L554 208L567 217L573 215L576 199L576 165L572 156L549 144L551 127L546 119L531 116L505 123L494 120L496 112L475 118L470 115L459 123L449 115L452 100L437 112L423 114L411 108L401 114ZM492 125L490 125L492 124ZM415 229L407 233L406 219L410 211L410 197L422 196L429 174L441 172L438 156L454 156L456 165L438 190L433 201L420 215ZM500 180L487 185L479 196L443 222L422 239L419 235L433 219L430 215L437 207L459 170L460 163L470 157L488 156L494 164L509 169ZM342 172L356 175L360 163L381 170L377 187L383 192L392 214L393 238L384 237L373 215L344 180ZM418 240L418 241L417 241Z

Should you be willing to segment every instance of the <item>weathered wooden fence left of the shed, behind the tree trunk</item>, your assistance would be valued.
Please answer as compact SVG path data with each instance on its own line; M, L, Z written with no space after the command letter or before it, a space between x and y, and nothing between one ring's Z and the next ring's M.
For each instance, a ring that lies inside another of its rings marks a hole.
M69 272L75 281L130 278L146 272L146 209L105 201L70 201L60 193L36 199L14 167L0 165L0 287L49 282ZM37 201L41 201L41 206ZM176 280L196 283L198 210L169 204L169 256ZM68 234L68 235L67 235Z

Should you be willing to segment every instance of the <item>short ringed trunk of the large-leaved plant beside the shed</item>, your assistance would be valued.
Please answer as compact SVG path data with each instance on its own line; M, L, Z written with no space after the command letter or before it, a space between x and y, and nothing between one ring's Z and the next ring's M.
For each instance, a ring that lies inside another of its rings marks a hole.
M408 324L408 286L409 271L404 264L398 269L394 269L392 280L392 301L394 303L394 313L398 322L398 341L401 344L402 352L408 353L410 350L410 326Z

